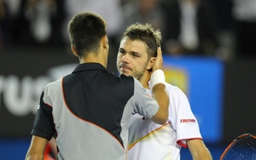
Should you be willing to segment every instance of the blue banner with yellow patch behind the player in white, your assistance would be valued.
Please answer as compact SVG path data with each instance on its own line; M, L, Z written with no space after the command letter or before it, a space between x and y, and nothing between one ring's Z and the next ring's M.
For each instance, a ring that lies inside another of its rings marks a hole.
M166 82L183 90L207 143L222 139L224 64L207 57L164 56Z

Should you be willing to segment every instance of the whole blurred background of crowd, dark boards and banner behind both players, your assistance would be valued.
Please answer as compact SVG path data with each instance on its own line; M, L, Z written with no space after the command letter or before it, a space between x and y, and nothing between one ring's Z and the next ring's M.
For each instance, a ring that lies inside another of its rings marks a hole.
M114 73L126 26L162 32L166 81L188 96L213 159L256 134L255 0L0 0L0 159L24 159L44 85L79 63L67 22L83 11L107 20Z

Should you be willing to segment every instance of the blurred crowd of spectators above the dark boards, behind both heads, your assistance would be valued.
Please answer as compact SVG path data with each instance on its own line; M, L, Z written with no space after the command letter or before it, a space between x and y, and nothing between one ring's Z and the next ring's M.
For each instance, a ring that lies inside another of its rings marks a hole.
M162 32L164 54L256 57L255 0L0 0L0 54L14 48L65 52L67 23L83 11L107 21L113 57L126 26L136 22Z

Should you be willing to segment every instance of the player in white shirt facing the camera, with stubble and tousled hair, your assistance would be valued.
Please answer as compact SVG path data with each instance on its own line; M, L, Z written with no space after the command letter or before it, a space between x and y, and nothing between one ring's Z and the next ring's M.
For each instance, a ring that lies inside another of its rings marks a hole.
M154 31L148 24L137 23L126 29L119 45L119 73L137 78L147 89L148 95L154 94L150 90L154 77L150 77L150 74L157 62L156 51L160 41L160 31ZM160 125L138 114L131 117L128 159L178 160L182 146L189 147L194 160L212 159L186 95L176 86L165 85L170 101L168 122Z

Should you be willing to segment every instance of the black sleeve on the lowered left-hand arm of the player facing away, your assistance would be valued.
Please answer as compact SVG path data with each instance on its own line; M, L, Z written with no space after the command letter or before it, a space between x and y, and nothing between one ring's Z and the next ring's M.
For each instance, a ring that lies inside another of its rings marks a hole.
M53 122L52 107L45 104L43 99L44 91L40 97L31 134L50 140L55 136L55 124Z

